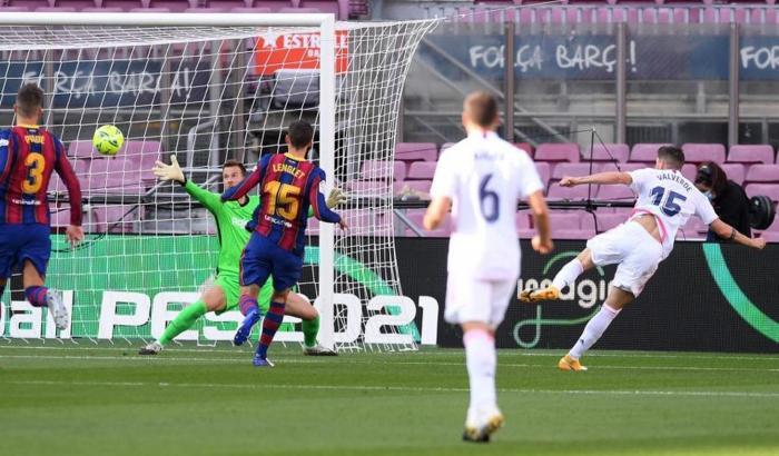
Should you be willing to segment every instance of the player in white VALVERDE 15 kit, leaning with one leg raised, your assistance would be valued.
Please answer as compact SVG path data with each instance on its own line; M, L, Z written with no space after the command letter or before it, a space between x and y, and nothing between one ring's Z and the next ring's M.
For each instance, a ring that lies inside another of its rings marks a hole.
M560 369L586 370L579 358L598 341L620 310L641 294L660 261L673 250L677 231L690 216L700 217L721 238L757 249L766 246L765 239L748 238L720 220L709 199L681 175L682 165L681 149L668 146L658 150L655 169L565 177L560 181L563 187L623 184L638 196L628 221L590 239L586 248L563 266L550 287L524 290L520 295L521 300L529 303L558 299L560 291L572 286L583 271L595 266L619 265L605 303L586 324L571 351L560 359Z

